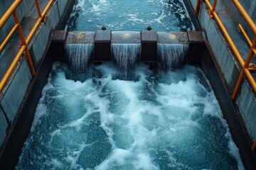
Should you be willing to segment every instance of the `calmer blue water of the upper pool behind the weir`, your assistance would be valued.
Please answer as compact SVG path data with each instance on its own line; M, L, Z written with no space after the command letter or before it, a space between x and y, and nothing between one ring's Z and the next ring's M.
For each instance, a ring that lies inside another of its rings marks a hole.
M67 30L194 30L181 0L78 0Z

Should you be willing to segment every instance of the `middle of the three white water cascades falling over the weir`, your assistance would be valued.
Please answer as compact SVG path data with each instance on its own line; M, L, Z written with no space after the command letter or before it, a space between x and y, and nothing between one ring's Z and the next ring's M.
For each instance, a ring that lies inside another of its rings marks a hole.
M124 72L125 79L139 63L140 47L140 44L112 44L114 65Z

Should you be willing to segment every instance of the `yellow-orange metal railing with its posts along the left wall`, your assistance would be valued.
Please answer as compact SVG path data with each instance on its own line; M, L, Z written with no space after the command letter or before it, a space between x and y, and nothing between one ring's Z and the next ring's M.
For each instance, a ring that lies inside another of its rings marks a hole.
M1 50L4 49L4 47L10 40L11 35L13 35L16 30L18 30L18 35L20 36L21 43L22 43L16 56L14 57L13 62L11 62L11 65L9 66L6 73L4 74L4 77L0 81L0 91L4 88L6 82L8 81L8 79L11 75L11 72L13 72L13 70L16 67L16 64L18 63L18 60L20 59L23 52L25 53L26 59L28 60L28 65L31 69L31 74L33 76L36 75L35 69L33 68L33 62L31 60L31 55L28 50L28 43L31 41L31 38L33 37L33 35L36 33L36 30L38 29L38 26L40 25L41 21L46 21L46 18L45 18L46 13L47 13L48 9L50 8L50 6L53 4L53 1L55 1L55 0L49 0L48 4L46 5L46 7L44 8L42 13L41 13L41 9L40 9L38 0L35 0L36 8L38 11L38 20L36 21L35 25L33 26L31 32L28 34L27 38L25 38L23 35L23 30L21 28L21 24L18 20L17 14L16 14L16 8L21 4L22 1L23 0L15 0L14 3L11 4L11 6L7 9L7 11L4 13L4 15L0 18L0 29L3 28L4 24L6 23L6 21L8 21L8 19L10 18L11 15L14 16L14 21L15 21L14 27L11 29L9 34L6 36L6 38L4 39L4 42L2 42L0 44L0 52L1 52Z

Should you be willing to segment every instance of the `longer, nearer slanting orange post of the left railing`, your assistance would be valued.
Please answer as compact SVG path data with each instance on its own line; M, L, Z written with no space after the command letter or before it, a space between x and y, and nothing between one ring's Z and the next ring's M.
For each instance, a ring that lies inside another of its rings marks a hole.
M29 67L31 69L31 73L33 74L33 76L36 76L36 71L35 71L35 69L33 67L33 62L31 60L31 55L29 54L27 43L26 43L26 40L24 38L24 34L23 34L22 29L21 29L21 24L20 24L20 22L18 20L18 15L17 15L16 11L14 11L13 16L14 16L15 23L18 23L18 35L20 35L22 45L24 45L26 47L26 49L25 49L25 56L26 56L26 59L28 60L28 65L29 65Z

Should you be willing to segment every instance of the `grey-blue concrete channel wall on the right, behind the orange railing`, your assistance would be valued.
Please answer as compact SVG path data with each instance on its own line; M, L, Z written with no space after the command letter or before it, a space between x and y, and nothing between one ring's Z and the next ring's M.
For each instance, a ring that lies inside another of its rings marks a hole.
M197 0L191 0L191 4L194 9L196 8L196 1ZM211 2L213 3L213 1ZM241 55L245 54L243 56L246 57L247 53L243 52L242 50L248 50L247 45L245 42L243 43L243 45L245 46L241 45L241 49L239 49L239 45L245 40L243 39L242 35L239 35L237 25L235 24L236 21L241 20L241 16L238 16L238 13L235 12L235 6L232 4L232 1L224 2L228 4L223 4L223 1L218 1L219 5L217 6L217 11L218 9L220 9L218 11L218 14L220 16L223 16L223 22L224 25L227 26L227 28L235 29L231 30L230 35L232 35L234 41L238 43L238 50L240 50ZM248 11L248 13L251 13L251 16L255 19L256 16L253 14L253 12L255 12L256 1L240 2ZM233 13L236 14L230 15L229 9L233 10ZM234 21L234 24L228 21L227 18L229 16L232 16L230 20ZM213 54L215 55L215 59L213 60L215 60L214 62L216 64L216 67L218 68L220 76L223 79L225 88L228 90L229 94L233 94L235 84L237 83L238 77L240 75L240 64L236 59L235 55L233 54L232 50L230 49L228 42L226 42L223 33L218 27L218 24L215 22L214 18L210 18L210 16L208 15L208 7L204 2L201 5L201 9L198 14L198 20L201 24L202 30L204 30L206 33L211 50L213 50ZM238 35L235 35L236 32L238 32ZM243 123L245 123L247 132L250 135L250 140L256 140L256 94L255 91L252 89L251 84L247 81L246 77L242 81L242 85L240 86L240 90L238 91L238 95L236 96L234 102L236 107L238 108L238 117L241 117Z

